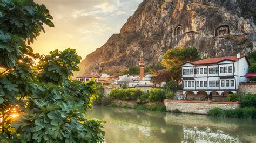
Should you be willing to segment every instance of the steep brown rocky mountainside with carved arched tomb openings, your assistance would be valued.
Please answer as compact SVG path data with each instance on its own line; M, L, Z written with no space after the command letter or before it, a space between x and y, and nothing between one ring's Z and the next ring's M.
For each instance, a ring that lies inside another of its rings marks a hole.
M209 57L248 53L256 45L255 15L255 0L144 0L119 34L86 56L76 74L138 66L142 50L147 66L177 46L196 47Z

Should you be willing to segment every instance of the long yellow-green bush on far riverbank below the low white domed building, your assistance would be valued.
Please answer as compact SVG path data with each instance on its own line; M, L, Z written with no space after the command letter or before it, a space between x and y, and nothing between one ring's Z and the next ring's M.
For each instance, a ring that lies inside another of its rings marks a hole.
M142 96L144 92L140 89L112 89L110 91L109 96L113 99L120 99L120 100L137 100L140 96Z

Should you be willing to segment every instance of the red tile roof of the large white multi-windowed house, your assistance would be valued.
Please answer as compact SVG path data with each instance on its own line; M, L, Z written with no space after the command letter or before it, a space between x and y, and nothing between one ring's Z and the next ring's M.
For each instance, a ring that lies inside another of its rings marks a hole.
M246 55L241 55L240 56L240 58L244 58L244 57L246 57ZM208 58L208 59L203 59L203 60L194 61L194 62L186 62L186 63L191 63L193 65L211 65L211 64L219 63L219 62L222 62L222 61L225 61L225 60L238 61L239 59L235 55L235 56L225 56L225 57L219 57L219 58Z

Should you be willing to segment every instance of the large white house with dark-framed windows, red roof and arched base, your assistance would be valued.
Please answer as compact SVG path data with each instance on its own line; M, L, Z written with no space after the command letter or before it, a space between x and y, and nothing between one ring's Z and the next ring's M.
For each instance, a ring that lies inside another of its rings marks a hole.
M185 62L182 67L183 94L201 99L226 97L237 93L240 82L246 82L250 63L245 55Z

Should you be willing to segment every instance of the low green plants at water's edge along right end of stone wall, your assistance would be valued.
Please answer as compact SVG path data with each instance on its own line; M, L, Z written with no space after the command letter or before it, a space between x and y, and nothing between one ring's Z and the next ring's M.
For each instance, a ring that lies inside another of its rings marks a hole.
M211 116L216 116L216 117L255 119L256 118L256 108L246 107L246 108L237 108L237 109L230 109L230 110L213 108L209 111L209 114Z

